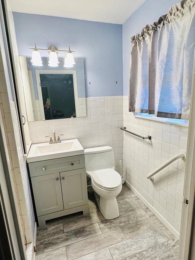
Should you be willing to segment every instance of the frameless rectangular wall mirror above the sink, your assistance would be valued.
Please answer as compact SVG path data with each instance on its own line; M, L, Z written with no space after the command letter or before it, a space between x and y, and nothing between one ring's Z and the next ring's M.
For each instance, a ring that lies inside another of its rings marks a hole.
M64 58L58 67L41 59L43 66L34 66L31 57L19 57L28 122L87 116L83 58L73 68L63 67Z

